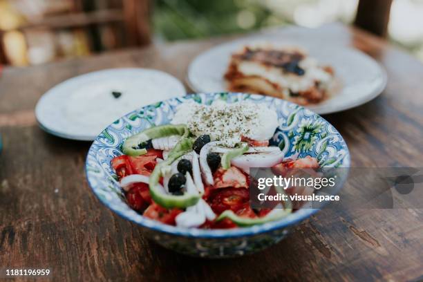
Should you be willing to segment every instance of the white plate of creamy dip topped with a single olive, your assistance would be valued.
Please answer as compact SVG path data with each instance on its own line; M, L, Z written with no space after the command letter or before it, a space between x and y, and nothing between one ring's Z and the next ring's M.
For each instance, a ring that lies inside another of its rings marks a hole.
M113 92L122 94L115 97ZM35 115L48 133L88 141L133 109L185 94L182 83L162 71L115 68L79 75L51 88L38 101Z

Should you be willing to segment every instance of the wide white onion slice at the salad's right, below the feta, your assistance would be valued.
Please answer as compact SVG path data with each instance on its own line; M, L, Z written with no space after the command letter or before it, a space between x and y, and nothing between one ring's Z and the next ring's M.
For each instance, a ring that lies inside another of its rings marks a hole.
M250 167L273 167L283 160L285 154L281 151L272 151L270 153L250 153L238 156L231 160L231 164L245 173L250 173Z

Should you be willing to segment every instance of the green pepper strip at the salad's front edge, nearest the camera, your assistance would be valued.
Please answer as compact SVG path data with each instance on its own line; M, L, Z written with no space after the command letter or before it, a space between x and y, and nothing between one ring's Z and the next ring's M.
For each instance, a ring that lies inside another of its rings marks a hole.
M272 211L272 214L268 214L267 216L263 216L262 218L245 218L241 216L237 216L232 212L232 210L227 209L225 212L220 214L220 216L216 219L216 221L223 220L224 218L229 218L238 226L241 227L248 227L257 224L268 223L270 221L279 220L291 214L292 209L276 209Z

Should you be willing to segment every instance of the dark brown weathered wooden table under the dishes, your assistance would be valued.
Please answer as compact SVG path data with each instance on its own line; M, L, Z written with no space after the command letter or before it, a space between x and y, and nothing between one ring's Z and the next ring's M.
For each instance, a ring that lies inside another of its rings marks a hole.
M84 176L88 142L56 138L36 124L37 100L65 79L140 66L183 80L191 59L228 39L6 68L0 78L0 266L49 267L53 281L423 279L421 209L326 209L278 245L240 259L193 259L164 250L93 196ZM382 95L325 117L344 135L352 165L422 167L423 65L382 39L344 26L315 30L310 40L317 39L355 46L388 72Z

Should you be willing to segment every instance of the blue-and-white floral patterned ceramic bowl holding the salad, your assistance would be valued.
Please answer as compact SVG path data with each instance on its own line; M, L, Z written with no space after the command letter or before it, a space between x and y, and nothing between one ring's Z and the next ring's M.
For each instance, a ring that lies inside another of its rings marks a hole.
M237 229L184 229L164 225L144 218L125 202L124 195L111 168L111 160L122 154L126 138L146 129L151 124L168 124L176 106L187 100L211 104L214 100L228 103L250 100L265 103L277 109L279 128L274 133L273 144L279 145L286 156L314 156L324 167L349 167L350 155L338 131L319 115L297 104L262 95L245 93L208 93L177 97L157 104L144 106L105 129L93 142L86 158L86 176L94 194L116 214L140 225L145 236L160 245L193 256L223 258L241 256L263 250L281 241L289 230L318 209L300 209L290 216L263 225Z

